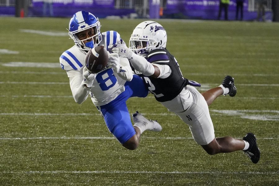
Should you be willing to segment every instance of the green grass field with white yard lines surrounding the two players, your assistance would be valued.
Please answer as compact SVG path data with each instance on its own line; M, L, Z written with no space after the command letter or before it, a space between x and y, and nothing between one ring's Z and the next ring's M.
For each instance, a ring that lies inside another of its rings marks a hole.
M128 42L142 20L100 20ZM199 91L235 77L237 95L210 105L215 136L253 132L261 160L241 151L208 155L188 126L147 98L127 101L157 119L129 151L109 133L88 98L75 103L59 57L73 45L69 19L0 18L0 185L279 185L279 24L158 20L167 49ZM29 65L29 66L28 66Z

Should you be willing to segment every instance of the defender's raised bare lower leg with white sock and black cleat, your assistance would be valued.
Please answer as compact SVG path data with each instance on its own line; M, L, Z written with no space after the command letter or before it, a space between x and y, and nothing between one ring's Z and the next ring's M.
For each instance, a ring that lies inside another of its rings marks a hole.
M234 78L226 76L220 86L205 91L201 95L206 100L207 105L210 105L220 95L230 95L233 97L236 93L237 88L234 85Z

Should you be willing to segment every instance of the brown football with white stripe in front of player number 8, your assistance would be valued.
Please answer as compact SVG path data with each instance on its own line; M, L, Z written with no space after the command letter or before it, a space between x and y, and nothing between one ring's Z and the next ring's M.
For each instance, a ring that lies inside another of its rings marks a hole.
M97 46L87 52L85 66L89 73L99 73L108 64L108 53L104 46Z

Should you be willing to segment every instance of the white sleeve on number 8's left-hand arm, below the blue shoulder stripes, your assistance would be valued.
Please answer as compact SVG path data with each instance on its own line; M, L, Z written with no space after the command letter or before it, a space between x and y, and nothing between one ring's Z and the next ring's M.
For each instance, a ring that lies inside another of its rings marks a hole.
M88 97L88 93L90 91L90 88L82 85L82 68L81 72L77 70L69 70L67 71L67 74L70 80L73 98L78 104L82 104Z

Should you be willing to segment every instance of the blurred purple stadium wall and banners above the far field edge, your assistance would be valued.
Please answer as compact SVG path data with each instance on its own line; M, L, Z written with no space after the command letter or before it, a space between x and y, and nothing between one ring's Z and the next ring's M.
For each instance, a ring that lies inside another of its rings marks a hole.
M235 20L236 1L230 0L229 20ZM243 20L255 20L257 0L244 0ZM71 17L79 10L99 18L176 18L215 20L219 0L0 0L0 15ZM266 20L279 21L278 0L267 0Z

